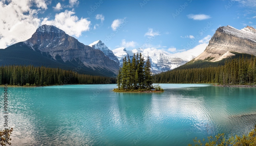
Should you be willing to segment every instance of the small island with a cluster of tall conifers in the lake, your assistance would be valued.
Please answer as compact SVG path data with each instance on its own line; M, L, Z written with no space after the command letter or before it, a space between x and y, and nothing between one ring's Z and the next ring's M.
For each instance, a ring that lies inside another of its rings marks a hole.
M149 57L144 61L140 53L133 54L132 60L128 56L123 58L123 67L119 69L116 77L118 88L114 92L163 92L159 85L153 86L151 63Z

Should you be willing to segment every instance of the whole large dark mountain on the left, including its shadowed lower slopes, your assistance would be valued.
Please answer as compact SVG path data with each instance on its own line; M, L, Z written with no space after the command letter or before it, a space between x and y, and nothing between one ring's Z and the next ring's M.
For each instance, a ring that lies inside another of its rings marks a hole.
M49 25L40 26L30 39L2 49L0 54L0 64L62 66L107 76L114 76L119 70L119 64L101 50L84 45L61 29Z

